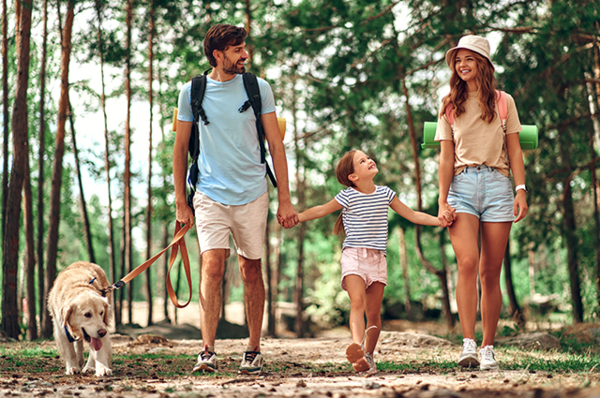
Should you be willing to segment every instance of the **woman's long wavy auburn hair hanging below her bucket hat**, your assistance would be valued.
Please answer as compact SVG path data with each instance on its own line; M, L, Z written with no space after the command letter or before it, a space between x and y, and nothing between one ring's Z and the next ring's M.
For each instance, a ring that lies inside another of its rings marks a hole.
M464 103L469 97L467 91L467 83L460 78L456 72L455 62L458 50L452 53L452 77L450 78L450 93L442 100L442 109L439 117L441 118L446 113L446 107L452 104L454 109L454 117L459 117L465 113ZM471 51L473 58L477 64L477 94L479 99L479 107L481 108L481 120L491 123L496 117L496 88L498 81L494 77L494 68L490 65L487 58Z

